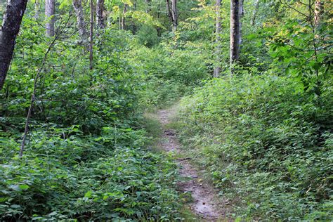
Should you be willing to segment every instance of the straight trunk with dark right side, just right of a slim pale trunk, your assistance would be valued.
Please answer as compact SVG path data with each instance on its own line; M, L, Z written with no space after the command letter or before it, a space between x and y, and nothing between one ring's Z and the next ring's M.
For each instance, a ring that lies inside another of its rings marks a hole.
M230 72L233 74L233 65L240 57L240 1L230 1Z

